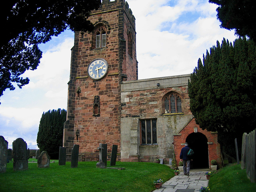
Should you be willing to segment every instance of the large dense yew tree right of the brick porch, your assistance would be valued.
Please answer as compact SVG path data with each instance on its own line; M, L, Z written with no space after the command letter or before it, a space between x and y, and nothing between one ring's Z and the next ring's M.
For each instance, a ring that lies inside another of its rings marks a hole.
M223 39L198 60L188 82L190 110L200 128L218 131L218 142L235 157L234 139L256 128L256 46Z

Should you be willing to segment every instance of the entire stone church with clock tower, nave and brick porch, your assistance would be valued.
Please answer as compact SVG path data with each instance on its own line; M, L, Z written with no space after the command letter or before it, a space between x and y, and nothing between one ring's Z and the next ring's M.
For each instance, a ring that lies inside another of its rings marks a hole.
M89 20L90 33L75 32L68 82L63 146L67 160L118 145L119 160L164 164L188 142L194 168L221 166L217 132L202 130L190 112L190 74L138 80L135 17L125 0L102 0ZM177 164L178 166L178 164Z

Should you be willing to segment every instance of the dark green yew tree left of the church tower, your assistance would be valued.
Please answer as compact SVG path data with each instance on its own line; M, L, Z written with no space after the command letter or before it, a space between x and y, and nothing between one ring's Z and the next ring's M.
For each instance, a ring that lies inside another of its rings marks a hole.
M59 148L62 146L63 126L67 112L64 109L49 110L42 114L37 134L37 146L40 151L46 151L51 159L59 158Z

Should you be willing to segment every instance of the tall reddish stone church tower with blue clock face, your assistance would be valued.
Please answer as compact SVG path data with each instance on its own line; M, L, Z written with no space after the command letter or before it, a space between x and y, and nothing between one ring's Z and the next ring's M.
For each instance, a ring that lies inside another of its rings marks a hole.
M121 84L138 79L135 18L125 0L102 0L90 33L75 32L63 146L96 152L99 143L120 151Z

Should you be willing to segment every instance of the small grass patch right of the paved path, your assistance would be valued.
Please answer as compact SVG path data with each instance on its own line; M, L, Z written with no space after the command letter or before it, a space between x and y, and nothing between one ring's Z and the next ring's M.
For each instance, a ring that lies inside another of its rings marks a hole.
M232 164L212 174L208 184L210 192L255 192L256 183L251 183L241 165Z

